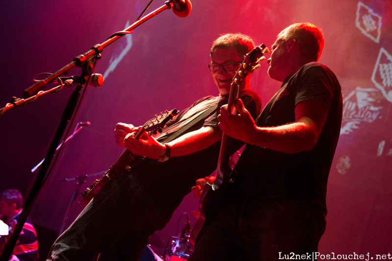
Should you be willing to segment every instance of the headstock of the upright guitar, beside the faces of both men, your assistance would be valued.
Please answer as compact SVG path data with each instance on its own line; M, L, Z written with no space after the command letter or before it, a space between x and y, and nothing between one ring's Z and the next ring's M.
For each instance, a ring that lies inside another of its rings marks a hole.
M270 52L270 50L264 44L261 44L260 46L255 47L253 50L248 52L245 55L240 69L238 69L236 75L233 77L233 84L241 85L244 78L250 72L260 67L259 62L266 59L266 57L263 55L268 52Z

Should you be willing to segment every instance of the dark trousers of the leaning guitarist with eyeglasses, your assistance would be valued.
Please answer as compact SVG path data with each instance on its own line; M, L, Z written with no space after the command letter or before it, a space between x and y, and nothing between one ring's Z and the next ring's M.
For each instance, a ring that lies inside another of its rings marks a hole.
M120 175L57 238L48 260L90 261L102 253L99 260L137 261L148 236L169 219L133 175Z

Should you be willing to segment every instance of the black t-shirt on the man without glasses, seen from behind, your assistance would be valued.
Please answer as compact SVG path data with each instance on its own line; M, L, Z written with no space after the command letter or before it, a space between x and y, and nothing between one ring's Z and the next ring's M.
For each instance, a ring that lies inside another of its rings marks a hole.
M341 86L335 74L316 62L304 65L283 82L256 123L272 127L294 122L294 107L303 100L317 100L329 109L316 146L283 153L247 144L236 166L241 173L241 197L294 198L326 214L327 179L342 122Z

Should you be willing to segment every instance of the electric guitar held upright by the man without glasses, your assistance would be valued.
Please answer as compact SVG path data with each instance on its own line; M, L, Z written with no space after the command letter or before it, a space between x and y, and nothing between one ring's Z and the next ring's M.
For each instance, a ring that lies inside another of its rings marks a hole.
M240 93L241 83L249 73L260 67L258 63L266 58L263 57L263 55L264 53L268 52L270 52L268 47L262 44L258 47L255 47L253 50L251 50L245 55L244 61L240 69L238 69L236 75L234 75L233 81L230 86L227 107L232 115L238 114L238 111L235 108L234 104ZM189 238L189 242L192 245L195 245L198 233L203 228L203 226L211 222L215 218L216 214L218 214L220 210L224 207L225 204L223 202L225 198L227 198L228 193L230 193L230 191L228 191L229 186L225 186L224 183L235 183L235 175L232 173L232 169L229 164L231 143L232 138L223 133L215 181L211 185L207 183L200 196L200 217L198 218ZM225 187L225 189L221 190L224 191L221 191L221 193L212 192L218 190L222 184L222 188ZM206 194L209 195L206 197Z

